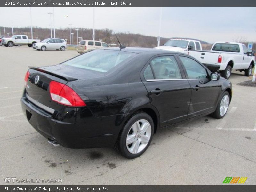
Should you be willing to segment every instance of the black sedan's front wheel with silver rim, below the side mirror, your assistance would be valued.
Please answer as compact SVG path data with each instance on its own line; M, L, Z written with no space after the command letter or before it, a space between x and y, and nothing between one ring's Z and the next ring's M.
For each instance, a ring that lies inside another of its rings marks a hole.
M229 103L230 103L230 95L227 91L225 91L221 95L220 101L217 105L216 110L212 113L212 116L216 119L223 118L228 111Z

